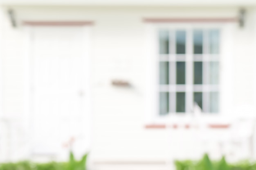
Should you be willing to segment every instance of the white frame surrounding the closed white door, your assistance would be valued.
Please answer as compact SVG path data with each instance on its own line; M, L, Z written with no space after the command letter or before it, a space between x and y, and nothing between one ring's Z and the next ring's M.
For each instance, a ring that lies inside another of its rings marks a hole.
M25 103L24 103L24 120L26 124L27 129L27 139L31 139L32 134L31 129L33 129L33 116L34 116L34 87L33 87L33 70L34 70L34 64L33 64L33 55L32 52L32 43L33 43L33 30L35 27L73 27L73 26L80 26L83 28L83 35L86 37L85 44L84 44L84 52L85 52L85 67L86 67L86 87L85 87L85 105L87 106L85 108L85 111L87 114L87 127L88 128L88 136L89 136L89 142L88 142L88 148L92 148L92 108L91 108L91 68L90 68L90 35L91 35L91 25L93 22L23 22L24 24L24 31L25 31L25 63L24 63L24 73L25 73L25 84L24 84L24 92L25 92ZM89 151L89 150L88 150ZM32 158L34 155L33 149L32 149L32 143L29 142L28 148L27 148L27 157ZM50 155L49 155L50 156Z

